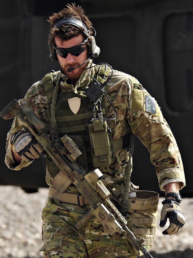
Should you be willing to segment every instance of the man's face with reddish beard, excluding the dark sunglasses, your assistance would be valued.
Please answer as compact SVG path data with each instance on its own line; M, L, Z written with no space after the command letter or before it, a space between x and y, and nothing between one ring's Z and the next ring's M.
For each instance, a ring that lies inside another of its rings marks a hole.
M58 48L70 48L83 43L83 41L84 39L82 34L67 41L63 41L62 43L60 41L60 38L55 38L56 47ZM86 45L83 46L86 47ZM87 49L77 57L72 54L68 54L66 58L63 58L59 55L57 55L57 57L64 74L70 79L71 83L75 83L80 78L81 74L88 64L88 62L86 62L83 66L73 70L72 72L67 72L67 68L75 68L86 61Z

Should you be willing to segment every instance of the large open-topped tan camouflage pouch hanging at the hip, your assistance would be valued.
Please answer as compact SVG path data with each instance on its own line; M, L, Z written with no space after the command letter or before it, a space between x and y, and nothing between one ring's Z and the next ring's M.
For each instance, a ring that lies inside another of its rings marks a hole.
M149 251L154 243L158 220L159 194L151 191L136 191L136 197L129 198L128 226L142 245ZM135 253L142 256L141 251Z

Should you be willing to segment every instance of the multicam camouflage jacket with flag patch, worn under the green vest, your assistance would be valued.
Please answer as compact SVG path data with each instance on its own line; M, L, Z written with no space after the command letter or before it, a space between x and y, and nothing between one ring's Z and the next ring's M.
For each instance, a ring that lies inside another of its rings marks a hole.
M91 62L88 67L90 65ZM91 67L89 72L96 78L98 69L99 66ZM59 74L61 74L62 78L60 81L61 94L74 92L78 96L88 88L93 80L88 75L88 70L85 70L75 86L73 86L67 83L68 78L60 71L53 74L55 82L57 82ZM163 190L163 187L170 182L180 182L181 188L185 186L183 164L178 146L154 98L150 96L137 79L116 70L113 70L112 77L105 86L105 91L117 111L117 119L109 122L113 141L120 139L131 131L150 152L151 163L156 167L160 189ZM50 122L50 104L48 103L42 80L34 83L29 88L25 100L39 119L48 126ZM115 116L113 107L106 96L105 107L107 117ZM5 158L5 163L13 170L20 170L31 163L31 161L22 161L21 164L17 165L12 157L8 142L11 134L17 130L25 130L25 128L15 118L11 130L7 134L7 153ZM126 149L117 150L110 166L99 167L99 170L103 173L102 181L107 188L124 182L128 157ZM54 169L52 168L51 170ZM57 173L57 169L55 169L55 172L50 172L49 164L47 164L46 181L48 185L51 186L51 180ZM73 187L70 190L76 191Z

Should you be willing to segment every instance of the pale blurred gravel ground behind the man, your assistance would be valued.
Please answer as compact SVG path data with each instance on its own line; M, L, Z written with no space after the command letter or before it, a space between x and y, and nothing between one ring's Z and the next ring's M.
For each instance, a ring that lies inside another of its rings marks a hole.
M42 245L41 211L47 195L45 188L27 194L17 186L0 186L0 258L42 257L38 252ZM159 213L162 200L160 198ZM186 224L179 234L164 236L163 229L157 227L151 249L154 258L193 258L193 198L183 198L181 209Z

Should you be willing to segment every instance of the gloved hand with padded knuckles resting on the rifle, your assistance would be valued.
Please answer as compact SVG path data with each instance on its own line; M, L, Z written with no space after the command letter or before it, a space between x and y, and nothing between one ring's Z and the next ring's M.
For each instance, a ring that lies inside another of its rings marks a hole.
M15 152L25 161L39 158L39 153L43 151L33 134L29 132L18 132L14 134L11 141L15 147Z

